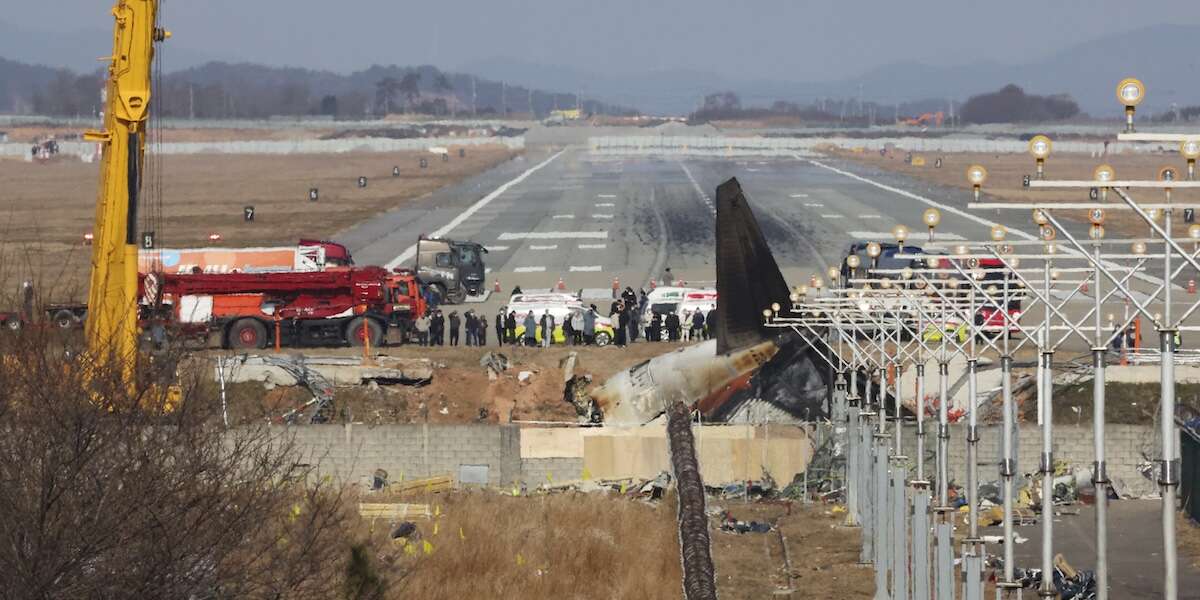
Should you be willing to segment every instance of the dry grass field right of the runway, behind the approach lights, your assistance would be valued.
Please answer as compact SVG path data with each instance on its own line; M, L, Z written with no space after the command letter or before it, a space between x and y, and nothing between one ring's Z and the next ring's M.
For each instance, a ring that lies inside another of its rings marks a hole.
M962 190L962 198L968 198L971 187L966 180L966 170L971 164L983 164L988 169L988 182L984 184L984 202L1088 202L1087 190L1030 190L1021 185L1021 178L1032 175L1037 168L1033 157L1027 154L942 154L942 152L914 152L914 156L924 156L924 167L913 167L905 162L902 149L890 152L888 156L880 156L877 152L848 152L838 151L838 156L857 162L878 167L882 169L902 173L922 181L929 181L943 186L953 186ZM935 168L936 158L942 158L942 167ZM1046 158L1046 179L1092 179L1092 169L1099 164L1108 163L1117 174L1117 179L1157 179L1158 169L1163 167L1175 167L1180 173L1186 173L1187 163L1177 152L1168 151L1163 154L1112 154L1105 157L1092 157L1088 155L1052 154ZM1163 202L1160 191L1133 191L1132 196L1144 203ZM1176 190L1171 194L1172 202L1198 202L1200 191ZM1112 194L1109 198L1112 204L1121 204L1121 199ZM1086 221L1082 211L1064 211L1068 218ZM1176 220L1182 223L1182 215L1176 214ZM1110 230L1126 235L1148 234L1150 228L1138 220L1128 210L1114 210L1109 212ZM1030 228L1033 228L1030 218ZM979 232L980 238L986 232ZM1184 227L1176 229L1175 235L1186 235Z

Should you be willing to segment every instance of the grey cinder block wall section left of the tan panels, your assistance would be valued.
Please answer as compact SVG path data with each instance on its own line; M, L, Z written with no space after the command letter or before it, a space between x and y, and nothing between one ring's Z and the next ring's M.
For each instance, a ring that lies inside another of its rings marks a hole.
M296 460L353 484L384 469L395 481L487 466L488 485L521 479L521 431L497 425L312 425L287 427Z

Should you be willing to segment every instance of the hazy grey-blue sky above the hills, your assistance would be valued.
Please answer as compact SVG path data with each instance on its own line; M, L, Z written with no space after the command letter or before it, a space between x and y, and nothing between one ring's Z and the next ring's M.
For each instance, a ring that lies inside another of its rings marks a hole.
M349 72L493 59L631 74L828 80L900 60L1016 64L1105 34L1200 23L1196 0L161 0L206 58ZM109 29L110 0L0 0L20 28ZM1115 40L1114 43L1123 43ZM98 54L96 54L98 55Z

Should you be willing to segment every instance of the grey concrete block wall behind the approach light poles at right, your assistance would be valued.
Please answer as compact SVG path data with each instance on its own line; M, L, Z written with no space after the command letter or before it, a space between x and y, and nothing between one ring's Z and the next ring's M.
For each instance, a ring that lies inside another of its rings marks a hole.
M1033 424L1022 425L1016 443L1016 472L1019 474L1036 473L1042 454L1042 428ZM917 460L916 426L905 427L902 446L911 463ZM998 425L979 426L978 467L979 481L1000 479L1001 427ZM1154 450L1158 431L1148 425L1108 425L1104 428L1105 460L1109 479L1120 481L1133 494L1146 494L1157 491L1153 481L1138 472L1138 466L1145 462L1144 452L1157 455ZM1096 454L1092 448L1092 427L1084 425L1054 428L1054 457L1067 461L1072 470L1092 468ZM937 422L925 425L925 472L935 474L937 464L932 452L937 449ZM950 425L949 470L950 479L966 484L967 443L966 425Z

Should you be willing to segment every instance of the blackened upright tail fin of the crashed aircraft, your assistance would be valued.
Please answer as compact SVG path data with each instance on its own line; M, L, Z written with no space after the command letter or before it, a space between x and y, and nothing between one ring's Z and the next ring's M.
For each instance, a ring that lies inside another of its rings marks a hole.
M716 187L716 352L769 337L762 311L791 292L736 178Z

